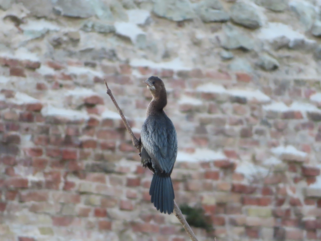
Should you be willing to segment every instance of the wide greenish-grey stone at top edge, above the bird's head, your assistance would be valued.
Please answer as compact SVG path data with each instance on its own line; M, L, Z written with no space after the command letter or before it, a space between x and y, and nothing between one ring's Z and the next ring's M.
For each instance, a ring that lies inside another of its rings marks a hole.
M156 0L153 12L173 21L183 21L195 17L192 4L188 0Z

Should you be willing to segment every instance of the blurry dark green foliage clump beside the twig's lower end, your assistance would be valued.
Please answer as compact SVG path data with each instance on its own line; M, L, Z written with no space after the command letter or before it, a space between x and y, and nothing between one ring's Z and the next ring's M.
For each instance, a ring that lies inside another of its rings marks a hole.
M207 232L213 230L211 220L204 215L204 210L202 208L192 208L187 204L183 204L179 208L182 213L186 215L186 221L189 226L204 228Z

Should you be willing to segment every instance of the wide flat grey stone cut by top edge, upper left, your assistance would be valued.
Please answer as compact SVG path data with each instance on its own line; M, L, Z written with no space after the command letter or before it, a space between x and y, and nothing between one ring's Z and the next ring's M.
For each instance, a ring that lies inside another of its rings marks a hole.
M95 15L91 2L83 0L57 0L54 9L56 14L67 17L89 18Z

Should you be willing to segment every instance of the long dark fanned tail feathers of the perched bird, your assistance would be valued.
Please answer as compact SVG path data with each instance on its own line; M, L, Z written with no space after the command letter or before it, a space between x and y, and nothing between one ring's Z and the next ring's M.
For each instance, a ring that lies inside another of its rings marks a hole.
M154 173L149 195L157 210L168 214L173 212L175 195L172 180L168 174Z

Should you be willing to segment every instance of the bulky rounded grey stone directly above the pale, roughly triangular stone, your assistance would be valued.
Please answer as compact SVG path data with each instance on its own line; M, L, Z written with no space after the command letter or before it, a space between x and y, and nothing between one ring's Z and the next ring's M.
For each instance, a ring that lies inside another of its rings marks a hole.
M256 29L263 24L258 9L252 4L236 2L230 10L231 19L244 27Z

